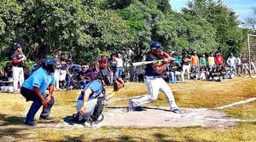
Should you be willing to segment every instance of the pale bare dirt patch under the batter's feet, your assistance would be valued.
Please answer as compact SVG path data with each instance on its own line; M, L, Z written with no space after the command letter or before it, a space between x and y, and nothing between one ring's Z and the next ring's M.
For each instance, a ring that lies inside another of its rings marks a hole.
M127 108L108 108L103 112L104 120L92 127L192 127L201 126L206 128L224 129L236 125L241 120L228 117L221 111L209 109L181 108L182 113L176 114L167 111L165 107L143 107L144 111L127 111ZM66 126L81 127L66 120Z

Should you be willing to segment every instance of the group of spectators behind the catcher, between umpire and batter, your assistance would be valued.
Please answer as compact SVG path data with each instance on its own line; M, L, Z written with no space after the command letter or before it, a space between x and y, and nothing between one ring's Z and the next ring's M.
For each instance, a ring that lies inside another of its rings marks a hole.
M61 54L60 59L55 54L55 60L55 90L82 88L89 82L90 72L102 71L107 78L105 85L112 85L116 77L122 76L123 60L120 54L111 54L109 58L102 54L100 60L95 59L92 63L84 65L74 64L71 58L65 58L65 54Z

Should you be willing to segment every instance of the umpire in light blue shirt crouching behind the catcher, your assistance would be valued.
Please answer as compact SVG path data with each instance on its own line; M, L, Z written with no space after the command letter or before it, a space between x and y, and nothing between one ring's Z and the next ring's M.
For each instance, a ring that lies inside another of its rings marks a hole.
M52 96L55 85L55 65L54 58L46 57L42 60L42 67L34 71L26 82L22 84L20 93L26 98L26 101L33 101L29 111L26 114L26 125L35 126L34 117L41 105L43 111L40 115L40 120L52 120L49 117L51 107L55 104L55 99ZM49 88L49 94L45 94L46 89Z

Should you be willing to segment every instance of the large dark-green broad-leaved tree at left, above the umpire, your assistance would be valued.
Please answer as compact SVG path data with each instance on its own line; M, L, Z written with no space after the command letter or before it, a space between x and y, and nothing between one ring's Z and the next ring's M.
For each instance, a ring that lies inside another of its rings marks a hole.
M6 26L1 39L21 42L31 60L66 52L75 61L89 62L99 52L116 50L130 41L125 22L113 11L99 9L97 1L8 1L2 11L0 22Z

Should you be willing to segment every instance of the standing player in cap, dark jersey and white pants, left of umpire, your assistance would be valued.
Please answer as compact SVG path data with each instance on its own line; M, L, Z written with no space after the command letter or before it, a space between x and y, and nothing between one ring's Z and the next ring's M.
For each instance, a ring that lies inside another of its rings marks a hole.
M15 43L15 52L12 54L13 59L13 77L14 77L14 93L19 94L20 89L18 88L18 83L20 86L24 82L24 64L26 61L26 56L22 53L20 43Z

